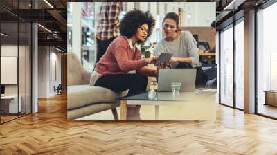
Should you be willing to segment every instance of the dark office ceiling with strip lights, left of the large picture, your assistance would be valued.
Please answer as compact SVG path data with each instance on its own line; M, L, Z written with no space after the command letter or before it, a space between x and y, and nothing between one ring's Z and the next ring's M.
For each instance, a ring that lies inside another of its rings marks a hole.
M1 30L7 40L17 37L17 24L15 22L35 22L38 26L39 45L56 46L66 51L66 19L67 0L1 0L0 19ZM21 24L19 24L21 27ZM24 37L24 31L19 30L19 39Z

